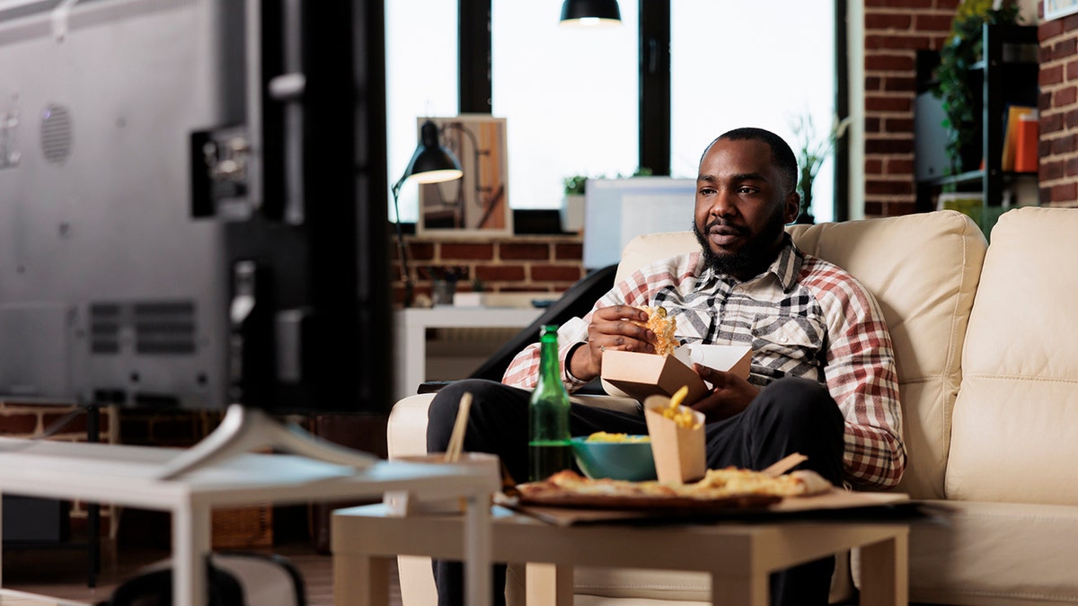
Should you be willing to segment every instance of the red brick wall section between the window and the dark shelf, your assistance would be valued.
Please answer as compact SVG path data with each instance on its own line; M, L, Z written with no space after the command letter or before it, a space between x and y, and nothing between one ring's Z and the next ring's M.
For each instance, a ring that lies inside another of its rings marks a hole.
M960 0L865 1L865 216L914 211L918 49L938 51Z

